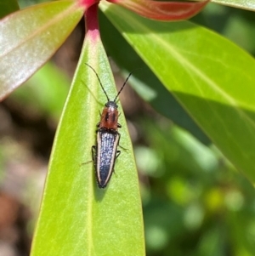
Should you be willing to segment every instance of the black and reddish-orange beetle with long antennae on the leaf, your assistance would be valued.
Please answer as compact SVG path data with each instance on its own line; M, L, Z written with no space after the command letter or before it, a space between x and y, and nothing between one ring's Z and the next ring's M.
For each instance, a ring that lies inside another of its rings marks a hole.
M88 65L87 63L85 64ZM127 76L126 81L116 94L115 99L110 100L99 79L99 75L91 65L88 65L88 67L94 71L107 98L105 107L100 114L100 122L96 126L96 145L93 145L91 150L97 184L99 188L105 188L111 179L111 174L114 172L116 158L121 154L121 151L117 150L121 138L118 128L121 128L122 126L118 123L119 112L118 105L116 105L116 100L121 94L122 89L127 84L127 80L132 75L132 72Z

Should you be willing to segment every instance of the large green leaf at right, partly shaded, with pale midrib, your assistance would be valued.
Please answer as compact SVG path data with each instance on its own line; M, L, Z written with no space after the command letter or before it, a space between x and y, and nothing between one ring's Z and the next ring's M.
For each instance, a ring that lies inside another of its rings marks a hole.
M100 7L215 145L255 181L252 57L189 21L163 23L108 3Z

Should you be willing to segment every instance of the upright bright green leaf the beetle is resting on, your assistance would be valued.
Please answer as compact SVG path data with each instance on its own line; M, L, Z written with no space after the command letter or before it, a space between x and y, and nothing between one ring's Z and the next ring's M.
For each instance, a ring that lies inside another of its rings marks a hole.
M31 255L144 255L144 230L138 174L124 115L122 150L115 174L99 189L91 162L99 111L116 96L105 49L86 36L71 92L59 122ZM120 108L122 112L122 108Z

